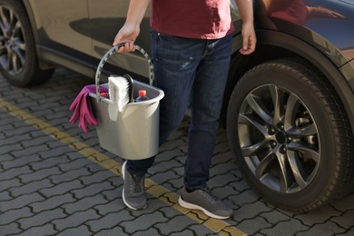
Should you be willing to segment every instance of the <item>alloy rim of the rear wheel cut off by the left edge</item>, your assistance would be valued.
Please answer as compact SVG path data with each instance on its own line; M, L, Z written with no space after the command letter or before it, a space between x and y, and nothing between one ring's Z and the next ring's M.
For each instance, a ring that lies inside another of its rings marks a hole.
M14 11L0 6L0 64L8 74L20 74L25 66L23 26Z

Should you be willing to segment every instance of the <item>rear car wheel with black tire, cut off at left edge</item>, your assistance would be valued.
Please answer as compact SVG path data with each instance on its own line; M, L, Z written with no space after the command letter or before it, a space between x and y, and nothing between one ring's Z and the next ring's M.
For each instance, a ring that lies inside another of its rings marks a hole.
M17 0L0 1L0 71L21 87L42 84L54 73L40 69L30 22Z

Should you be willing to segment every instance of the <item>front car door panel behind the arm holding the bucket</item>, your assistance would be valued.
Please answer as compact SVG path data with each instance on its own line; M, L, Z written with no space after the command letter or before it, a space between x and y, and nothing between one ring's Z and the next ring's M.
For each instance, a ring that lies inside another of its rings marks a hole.
M119 29L123 26L129 7L129 0L88 0L88 9L93 39L93 57L99 60L110 48ZM136 40L150 54L150 7L143 18L141 33ZM108 61L124 70L147 76L147 63L139 53L114 54Z

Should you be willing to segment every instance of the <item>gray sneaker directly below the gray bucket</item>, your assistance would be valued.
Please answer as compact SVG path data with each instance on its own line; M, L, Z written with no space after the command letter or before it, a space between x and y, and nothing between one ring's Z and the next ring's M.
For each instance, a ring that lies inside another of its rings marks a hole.
M122 166L123 173L123 202L133 210L142 210L146 207L145 178L128 172L126 162Z

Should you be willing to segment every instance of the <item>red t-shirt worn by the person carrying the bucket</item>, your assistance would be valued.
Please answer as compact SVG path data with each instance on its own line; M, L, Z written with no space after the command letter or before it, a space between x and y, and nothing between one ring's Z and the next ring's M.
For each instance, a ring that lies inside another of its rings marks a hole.
M161 34L218 39L233 31L230 0L152 0L151 25Z

